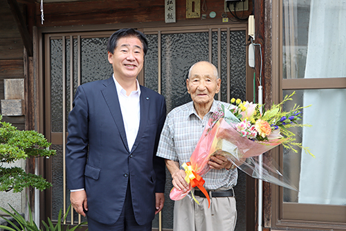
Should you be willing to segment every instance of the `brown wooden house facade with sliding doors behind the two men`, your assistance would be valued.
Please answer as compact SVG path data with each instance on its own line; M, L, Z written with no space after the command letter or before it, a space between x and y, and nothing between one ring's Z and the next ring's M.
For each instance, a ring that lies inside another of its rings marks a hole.
M233 1L229 2L232 8ZM26 162L26 171L36 171L53 183L51 189L42 192L26 191L37 219L50 217L54 221L59 209L66 211L69 205L64 146L73 95L82 83L109 78L112 70L105 46L109 35L120 28L136 28L147 36L149 52L138 81L165 96L167 111L190 101L185 78L188 68L199 60L208 60L218 68L222 87L217 99L221 101L233 97L257 101L259 88L263 89L266 107L292 91L298 96L315 89L345 94L345 72L330 78L299 77L299 64L305 60L292 55L288 47L296 47L289 42L295 41L298 33L303 34L304 26L297 25L309 24L313 1L307 6L299 2L246 0L237 3L239 9L228 10L224 0L0 0L0 99L5 100L6 79L24 80L23 113L4 116L3 120L19 129L42 132L57 150L50 159ZM166 5L172 3L175 15L168 17ZM338 1L334 10L339 12L344 5ZM309 11L307 16L304 10ZM248 36L249 15L255 18L252 41ZM175 22L167 22L170 20ZM294 35L293 29L298 33ZM254 68L248 65L251 42L255 47ZM338 54L338 58L345 60L345 55ZM299 68L293 68L295 63ZM289 77L295 74L298 77ZM332 93L331 99L335 95ZM304 103L302 99L294 101ZM295 172L293 166L300 165L300 159L287 160L287 153L293 155L282 147L275 148L264 154L264 162L274 161L284 171ZM346 230L346 196L337 203L303 203L298 193L239 172L236 230ZM299 184L298 176L292 178ZM170 181L167 177L167 192L172 187ZM165 208L154 219L153 230L172 230L173 203L167 192ZM68 220L84 221L75 212Z

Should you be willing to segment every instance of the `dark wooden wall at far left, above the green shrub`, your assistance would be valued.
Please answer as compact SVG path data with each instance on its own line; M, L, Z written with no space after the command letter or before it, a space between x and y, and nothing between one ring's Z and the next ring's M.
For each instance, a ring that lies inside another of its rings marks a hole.
M19 6L21 10L24 9L23 4ZM5 78L24 78L24 44L7 1L0 0L0 99L4 99ZM3 121L10 122L19 129L25 127L24 116L3 117Z

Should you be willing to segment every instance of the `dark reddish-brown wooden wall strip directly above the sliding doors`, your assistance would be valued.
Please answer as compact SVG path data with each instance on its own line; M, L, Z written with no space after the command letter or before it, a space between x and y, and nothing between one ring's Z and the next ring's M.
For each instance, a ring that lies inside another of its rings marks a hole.
M203 0L201 0L201 5ZM253 8L252 0L249 1L249 10L244 17L251 15ZM224 12L224 0L207 0L206 14L215 11L221 22L221 14ZM41 15L39 5L35 10L37 26L40 24ZM240 15L240 13L239 13ZM228 16L232 17L228 12ZM176 0L176 22L186 19L186 0ZM43 26L68 26L68 25L90 25L90 24L118 24L138 22L165 22L165 0L96 0L83 2L61 2L44 3L44 25Z

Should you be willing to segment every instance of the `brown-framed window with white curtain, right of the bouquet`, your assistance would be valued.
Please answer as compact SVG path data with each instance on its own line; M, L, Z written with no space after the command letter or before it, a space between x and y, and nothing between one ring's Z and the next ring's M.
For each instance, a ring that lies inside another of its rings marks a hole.
M311 105L302 116L311 127L295 132L316 158L283 151L299 191L277 191L274 226L346 230L346 2L282 0L278 9L281 95L295 91L287 109Z

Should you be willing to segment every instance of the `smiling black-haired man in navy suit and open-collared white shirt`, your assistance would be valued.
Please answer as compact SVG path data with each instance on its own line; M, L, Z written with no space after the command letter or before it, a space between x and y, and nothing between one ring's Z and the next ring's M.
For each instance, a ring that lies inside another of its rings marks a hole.
M165 200L165 162L156 157L165 99L136 80L147 53L143 33L120 29L107 50L113 76L78 87L69 114L71 204L90 231L149 231Z

